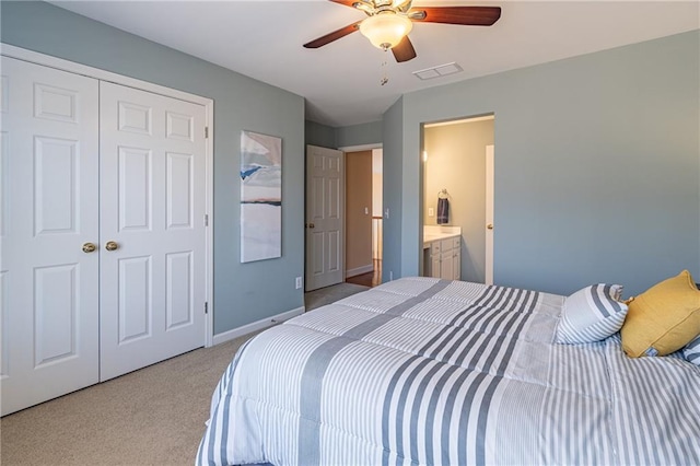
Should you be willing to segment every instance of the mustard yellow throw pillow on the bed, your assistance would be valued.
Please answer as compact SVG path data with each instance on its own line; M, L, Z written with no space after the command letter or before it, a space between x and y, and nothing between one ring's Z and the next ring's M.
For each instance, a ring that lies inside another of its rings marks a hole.
M629 303L620 329L632 358L666 356L700 334L700 291L688 270L656 283Z

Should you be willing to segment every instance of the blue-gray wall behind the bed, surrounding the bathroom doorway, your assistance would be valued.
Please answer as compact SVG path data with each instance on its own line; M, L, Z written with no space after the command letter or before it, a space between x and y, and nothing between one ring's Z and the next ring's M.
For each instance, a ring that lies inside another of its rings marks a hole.
M421 123L494 113L497 283L700 279L699 57L695 31L406 94L384 118L385 170L402 174L385 176L402 209L385 269L419 270Z

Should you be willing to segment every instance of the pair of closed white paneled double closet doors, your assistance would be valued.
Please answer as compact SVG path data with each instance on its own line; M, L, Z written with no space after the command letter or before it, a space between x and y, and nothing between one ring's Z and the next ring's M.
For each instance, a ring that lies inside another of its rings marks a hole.
M2 415L201 347L205 107L7 57L1 92Z

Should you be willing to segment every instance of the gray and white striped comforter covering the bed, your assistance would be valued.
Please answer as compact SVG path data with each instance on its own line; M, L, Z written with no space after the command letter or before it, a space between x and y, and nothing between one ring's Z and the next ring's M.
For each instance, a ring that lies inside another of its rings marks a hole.
M563 296L408 278L272 327L197 464L700 464L700 368L557 345Z

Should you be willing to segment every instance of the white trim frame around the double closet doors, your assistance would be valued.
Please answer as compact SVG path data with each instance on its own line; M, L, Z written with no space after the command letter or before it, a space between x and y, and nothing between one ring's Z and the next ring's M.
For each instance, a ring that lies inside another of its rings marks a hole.
M98 68L90 67L86 65L75 63L73 61L65 60L62 58L51 57L50 55L39 54L37 51L27 50L22 47L0 43L0 55L5 57L16 58L19 60L28 61L36 65L42 65L49 68L55 68L61 71L67 71L74 74L82 74L88 78L94 78L101 81L113 82L115 84L125 85L128 88L135 88L141 91L151 92L154 94L164 95L167 97L177 98L180 101L190 102L194 104L202 105L205 107L205 125L208 128L208 135L205 140L205 222L207 228L206 232L206 245L205 245L205 260L206 260L206 286L205 286L205 299L207 305L207 313L205 314L205 347L211 347L213 345L213 141L214 141L214 101L211 98L202 97L200 95L190 94L188 92L178 91L175 89L166 88L160 84L153 84L148 81L142 81L135 78L125 77L121 74L113 73L110 71L101 70ZM202 310L205 312L205 310Z

